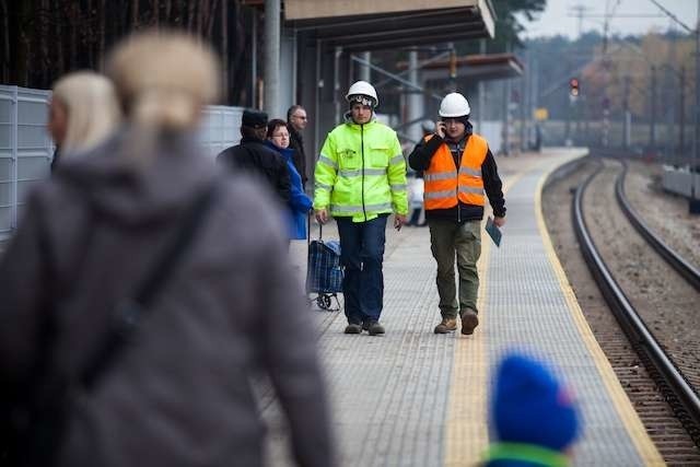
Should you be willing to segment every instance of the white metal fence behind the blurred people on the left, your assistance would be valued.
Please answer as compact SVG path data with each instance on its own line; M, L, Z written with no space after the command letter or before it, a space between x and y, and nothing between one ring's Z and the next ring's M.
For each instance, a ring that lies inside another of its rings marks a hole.
M16 229L26 192L49 175L54 144L46 129L50 91L0 85L0 242ZM237 144L243 108L209 106L200 140L212 159Z

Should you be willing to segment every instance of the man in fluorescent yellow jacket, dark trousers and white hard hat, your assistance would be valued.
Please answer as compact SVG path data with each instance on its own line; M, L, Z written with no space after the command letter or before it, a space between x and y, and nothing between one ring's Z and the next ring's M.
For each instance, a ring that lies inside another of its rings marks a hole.
M406 223L406 161L396 132L374 118L376 91L366 81L350 86L346 122L326 138L315 168L314 209L319 223L338 223L342 293L348 318L346 334L384 334L380 324L384 302L386 221Z

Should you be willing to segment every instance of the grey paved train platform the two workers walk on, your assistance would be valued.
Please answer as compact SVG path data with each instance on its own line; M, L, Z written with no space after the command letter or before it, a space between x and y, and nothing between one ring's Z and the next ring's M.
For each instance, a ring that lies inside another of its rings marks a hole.
M472 336L433 334L440 312L428 227L387 230L385 336L345 335L341 311L312 310L340 465L478 464L489 443L490 371L512 348L552 363L579 400L584 432L573 450L574 466L664 464L595 341L544 224L547 174L582 155L563 149L498 159L508 222L499 248L482 232L480 324ZM337 238L332 222L324 237ZM306 244L294 243L291 254L302 280ZM262 397L262 409L270 465L290 465L271 395Z

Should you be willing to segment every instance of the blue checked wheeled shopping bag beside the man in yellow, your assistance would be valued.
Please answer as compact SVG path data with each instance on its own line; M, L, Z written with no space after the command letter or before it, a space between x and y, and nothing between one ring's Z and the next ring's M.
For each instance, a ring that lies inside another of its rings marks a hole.
M311 226L311 218L308 222ZM316 304L322 310L340 311L338 293L342 292L342 266L340 264L340 243L324 241L323 226L319 226L318 240L311 240L308 229L308 268L306 269L306 293L316 294ZM332 306L332 300L336 305Z

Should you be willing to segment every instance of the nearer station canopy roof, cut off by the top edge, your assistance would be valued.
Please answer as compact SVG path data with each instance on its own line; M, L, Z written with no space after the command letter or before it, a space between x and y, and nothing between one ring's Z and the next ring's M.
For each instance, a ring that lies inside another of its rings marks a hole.
M285 26L364 51L493 37L490 0L284 0Z

